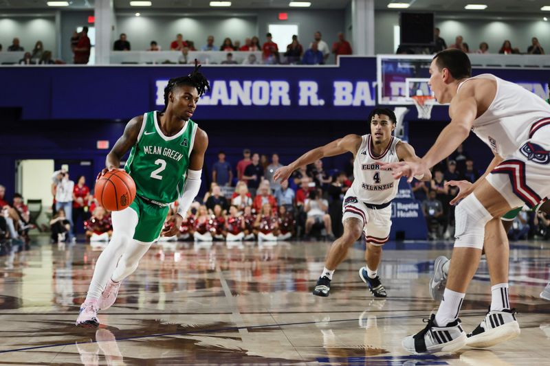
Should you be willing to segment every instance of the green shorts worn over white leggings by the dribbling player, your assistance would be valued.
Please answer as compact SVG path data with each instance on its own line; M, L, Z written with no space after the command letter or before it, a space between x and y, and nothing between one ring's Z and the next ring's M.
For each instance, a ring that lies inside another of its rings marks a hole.
M140 196L135 196L130 207L137 213L137 226L133 238L140 240L140 242L154 242L157 240L170 207L147 203Z

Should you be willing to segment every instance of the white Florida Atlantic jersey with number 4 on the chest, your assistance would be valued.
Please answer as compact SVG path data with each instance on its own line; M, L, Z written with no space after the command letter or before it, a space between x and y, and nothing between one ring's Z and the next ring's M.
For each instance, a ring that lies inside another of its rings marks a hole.
M391 170L380 169L380 164L399 161L395 148L401 139L392 136L388 147L379 157L375 157L371 150L371 135L363 135L362 140L353 161L355 179L351 185L351 191L364 203L373 205L388 203L397 194L399 180L393 179Z

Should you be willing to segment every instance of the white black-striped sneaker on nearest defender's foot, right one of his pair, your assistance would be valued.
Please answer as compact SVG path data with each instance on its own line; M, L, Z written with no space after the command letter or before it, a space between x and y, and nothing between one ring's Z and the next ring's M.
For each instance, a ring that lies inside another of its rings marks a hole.
M492 347L516 338L520 332L520 325L516 320L516 309L489 310L477 328L467 334L466 345L478 348Z

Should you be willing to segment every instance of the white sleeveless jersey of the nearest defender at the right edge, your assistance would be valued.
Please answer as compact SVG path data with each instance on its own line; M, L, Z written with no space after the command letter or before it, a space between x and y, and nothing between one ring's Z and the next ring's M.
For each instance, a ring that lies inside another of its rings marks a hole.
M483 115L474 120L472 131L501 157L514 154L534 131L550 124L550 105L518 84L490 73L483 73L459 84L476 79L496 81L496 95Z

